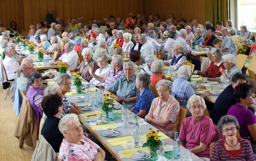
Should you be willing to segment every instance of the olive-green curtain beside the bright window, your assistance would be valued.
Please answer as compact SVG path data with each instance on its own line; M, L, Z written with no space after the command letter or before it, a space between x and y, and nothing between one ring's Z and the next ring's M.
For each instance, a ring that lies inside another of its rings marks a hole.
M205 20L216 26L217 21L222 21L225 26L228 16L228 0L205 0Z

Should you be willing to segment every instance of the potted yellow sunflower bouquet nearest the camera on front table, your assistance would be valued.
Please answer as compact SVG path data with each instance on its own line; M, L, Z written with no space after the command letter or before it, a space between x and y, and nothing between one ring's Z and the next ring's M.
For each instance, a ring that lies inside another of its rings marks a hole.
M152 128L149 129L150 133L146 135L146 143L142 147L149 147L151 151L156 152L156 150L163 145L158 136L159 130L153 131Z

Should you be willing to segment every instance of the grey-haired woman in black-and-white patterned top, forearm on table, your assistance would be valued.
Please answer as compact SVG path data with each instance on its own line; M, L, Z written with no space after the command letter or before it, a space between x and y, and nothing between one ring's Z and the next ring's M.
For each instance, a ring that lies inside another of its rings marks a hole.
M62 98L63 101L63 111L65 114L67 113L76 113L79 115L80 107L76 106L74 103L70 103L66 97L66 93L70 92L71 89L71 77L68 74L62 74L57 78L57 84L60 85L60 90L64 97Z

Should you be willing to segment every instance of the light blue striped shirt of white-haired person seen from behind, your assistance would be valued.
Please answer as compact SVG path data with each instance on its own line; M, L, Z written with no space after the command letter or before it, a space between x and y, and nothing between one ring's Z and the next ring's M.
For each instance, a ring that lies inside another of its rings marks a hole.
M188 111L187 104L188 99L192 95L196 95L193 85L184 78L177 78L173 81L172 93L175 94L175 98L179 101L180 106L187 109L187 115L191 115Z

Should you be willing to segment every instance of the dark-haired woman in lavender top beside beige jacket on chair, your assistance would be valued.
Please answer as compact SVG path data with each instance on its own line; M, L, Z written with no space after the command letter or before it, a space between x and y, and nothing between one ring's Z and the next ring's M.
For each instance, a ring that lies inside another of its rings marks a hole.
M43 115L41 108L41 102L44 97L44 89L42 89L42 74L40 72L32 72L29 76L30 87L26 93L26 98L28 99L34 113L36 113L37 118L37 132L39 133L40 120Z

